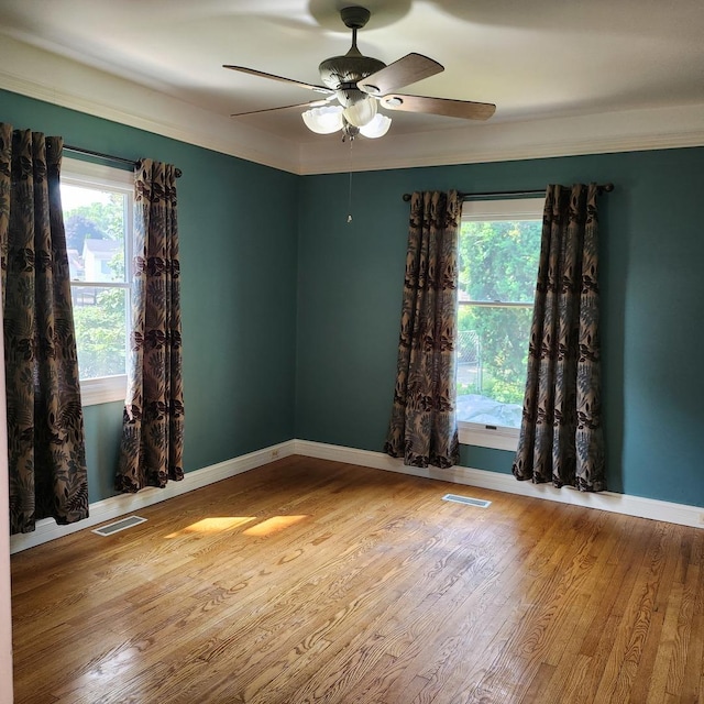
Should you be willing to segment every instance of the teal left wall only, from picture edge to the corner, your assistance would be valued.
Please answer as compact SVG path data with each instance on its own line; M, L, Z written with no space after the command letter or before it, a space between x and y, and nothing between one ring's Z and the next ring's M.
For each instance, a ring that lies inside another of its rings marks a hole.
M300 179L11 92L0 91L0 121L183 170L185 470L290 440ZM89 406L85 420L96 502L113 494L122 404Z

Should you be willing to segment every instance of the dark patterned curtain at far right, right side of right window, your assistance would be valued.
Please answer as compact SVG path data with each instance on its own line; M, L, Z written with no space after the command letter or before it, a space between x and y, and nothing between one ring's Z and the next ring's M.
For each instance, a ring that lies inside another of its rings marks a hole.
M598 331L597 187L549 186L513 472L606 488Z

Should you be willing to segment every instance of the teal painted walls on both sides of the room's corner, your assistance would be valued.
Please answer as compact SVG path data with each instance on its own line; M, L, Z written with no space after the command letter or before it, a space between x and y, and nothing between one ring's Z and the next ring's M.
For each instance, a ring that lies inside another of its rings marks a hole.
M613 182L601 199L609 488L704 506L703 148L359 173L348 223L346 174L299 177L2 91L0 121L183 169L187 471L294 437L382 449L402 194ZM121 409L86 409L94 502L112 494ZM509 472L510 462L462 448L465 466Z

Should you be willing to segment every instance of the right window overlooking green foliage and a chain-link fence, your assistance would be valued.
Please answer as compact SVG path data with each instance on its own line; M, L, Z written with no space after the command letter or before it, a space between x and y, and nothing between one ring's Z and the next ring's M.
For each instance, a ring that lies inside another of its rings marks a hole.
M540 257L542 198L465 201L460 230L460 441L515 450Z

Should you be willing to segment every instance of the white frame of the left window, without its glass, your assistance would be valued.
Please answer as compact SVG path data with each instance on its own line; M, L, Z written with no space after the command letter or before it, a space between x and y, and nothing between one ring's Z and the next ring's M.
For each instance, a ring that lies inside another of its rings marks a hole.
M61 183L84 188L111 190L128 196L125 199L124 231L124 283L94 282L100 288L121 288L127 292L127 336L125 348L129 355L132 307L132 231L134 227L134 172L94 162L64 157L62 161ZM82 282L81 282L82 283ZM72 285L74 283L72 282ZM124 402L127 396L128 375L116 374L96 378L80 380L80 397L82 406L95 406L112 402Z

